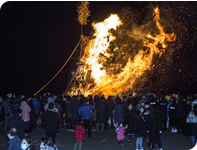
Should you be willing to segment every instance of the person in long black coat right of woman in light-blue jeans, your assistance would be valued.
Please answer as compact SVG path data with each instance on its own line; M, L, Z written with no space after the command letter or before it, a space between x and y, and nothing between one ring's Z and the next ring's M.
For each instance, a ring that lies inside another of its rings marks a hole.
M156 108L153 107L152 113L147 123L147 132L149 133L150 136L152 149L155 149L155 143L158 143L159 149L162 149L161 139L160 139L160 133L162 131L163 128L162 128L161 116L158 114Z

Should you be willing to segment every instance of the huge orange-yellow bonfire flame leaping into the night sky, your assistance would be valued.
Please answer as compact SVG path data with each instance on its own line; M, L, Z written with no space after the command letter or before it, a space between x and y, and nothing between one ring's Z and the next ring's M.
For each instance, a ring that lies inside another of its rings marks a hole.
M174 33L166 34L164 32L163 27L159 23L160 16L158 8L154 9L153 15L155 15L154 21L159 32L154 35L148 33L143 37L142 42L145 51L139 50L133 60L129 58L127 64L121 69L119 74L107 74L106 70L103 69L102 63L100 63L104 61L102 57L100 57L101 55L105 57L110 56L110 54L107 53L107 49L109 48L110 42L116 39L110 30L116 30L116 28L122 24L119 17L117 15L111 15L103 22L93 23L95 39L91 40L85 47L84 55L81 59L85 66L83 69L78 69L78 72L84 73L84 80L87 80L87 77L94 79L94 84L87 84L86 87L80 87L79 84L77 89L71 87L71 91L81 89L85 95L103 93L108 96L133 89L133 84L136 79L142 76L145 71L151 69L153 55L158 54L161 56L162 53L165 52L167 42L174 41L176 38ZM114 49L114 51L116 50L119 49ZM91 72L90 76L88 76L88 72ZM80 75L82 74L79 73L78 78Z

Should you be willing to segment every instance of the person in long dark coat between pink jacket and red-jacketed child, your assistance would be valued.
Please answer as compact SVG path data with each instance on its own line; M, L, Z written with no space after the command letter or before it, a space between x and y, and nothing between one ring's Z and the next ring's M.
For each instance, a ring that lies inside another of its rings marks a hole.
M46 136L51 138L55 144L55 136L57 132L57 122L59 121L58 110L54 108L53 103L49 103L49 108L47 109L44 120L46 121Z

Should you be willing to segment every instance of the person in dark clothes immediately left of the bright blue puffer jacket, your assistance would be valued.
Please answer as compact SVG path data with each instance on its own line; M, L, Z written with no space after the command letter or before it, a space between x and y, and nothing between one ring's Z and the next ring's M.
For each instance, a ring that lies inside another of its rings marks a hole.
M77 96L73 96L72 102L69 107L70 113L72 114L72 132L74 132L76 122L78 121L78 109L79 99Z

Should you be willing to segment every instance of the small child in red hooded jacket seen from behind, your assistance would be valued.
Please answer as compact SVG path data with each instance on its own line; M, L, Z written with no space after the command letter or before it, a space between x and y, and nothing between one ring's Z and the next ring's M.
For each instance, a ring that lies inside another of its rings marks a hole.
M81 150L82 142L86 140L85 130L82 126L82 122L78 122L77 125L75 125L74 134L75 134L75 145L73 150L76 150L78 145L79 145L79 150Z

